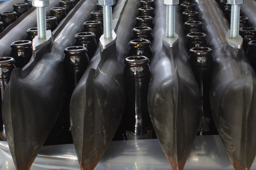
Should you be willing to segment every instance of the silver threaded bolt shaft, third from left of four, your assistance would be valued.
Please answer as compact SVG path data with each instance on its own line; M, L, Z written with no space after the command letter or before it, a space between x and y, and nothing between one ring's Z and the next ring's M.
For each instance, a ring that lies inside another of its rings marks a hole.
M175 6L166 6L166 37L175 35Z

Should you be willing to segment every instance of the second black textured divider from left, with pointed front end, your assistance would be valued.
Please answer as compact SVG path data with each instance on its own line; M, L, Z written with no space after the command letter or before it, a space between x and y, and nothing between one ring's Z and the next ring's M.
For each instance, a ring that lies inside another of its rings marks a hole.
M73 92L70 118L82 170L93 169L111 142L125 107L124 59L140 1L118 0L113 10L116 43L98 48Z

